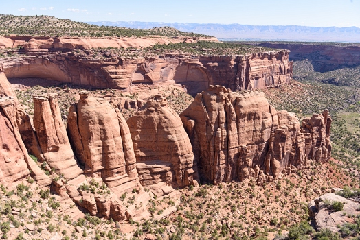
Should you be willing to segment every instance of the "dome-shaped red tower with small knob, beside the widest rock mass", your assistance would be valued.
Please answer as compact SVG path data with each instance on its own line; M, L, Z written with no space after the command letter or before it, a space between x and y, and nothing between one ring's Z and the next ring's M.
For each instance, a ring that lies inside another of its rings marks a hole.
M165 97L156 95L127 120L143 186L164 195L198 185L192 145L177 113Z

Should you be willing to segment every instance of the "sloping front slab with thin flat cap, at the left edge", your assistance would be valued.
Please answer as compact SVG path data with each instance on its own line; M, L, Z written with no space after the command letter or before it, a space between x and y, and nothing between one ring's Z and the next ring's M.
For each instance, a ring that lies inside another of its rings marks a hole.
M0 182L11 186L32 176L41 187L51 180L27 155L16 122L16 103L9 97L0 98Z

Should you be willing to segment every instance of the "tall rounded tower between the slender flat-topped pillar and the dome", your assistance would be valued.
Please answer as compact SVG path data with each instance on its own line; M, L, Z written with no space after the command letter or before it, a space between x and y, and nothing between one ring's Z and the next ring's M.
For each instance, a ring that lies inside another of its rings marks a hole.
M133 142L124 117L106 99L86 91L69 110L67 132L85 173L99 175L117 194L137 187Z

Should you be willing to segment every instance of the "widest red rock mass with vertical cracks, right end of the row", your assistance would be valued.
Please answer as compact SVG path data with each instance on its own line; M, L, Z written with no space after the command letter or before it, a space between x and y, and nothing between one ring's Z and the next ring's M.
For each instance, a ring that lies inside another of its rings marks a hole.
M304 119L277 111L258 92L210 86L181 113L200 173L210 182L278 178L330 158L328 112Z

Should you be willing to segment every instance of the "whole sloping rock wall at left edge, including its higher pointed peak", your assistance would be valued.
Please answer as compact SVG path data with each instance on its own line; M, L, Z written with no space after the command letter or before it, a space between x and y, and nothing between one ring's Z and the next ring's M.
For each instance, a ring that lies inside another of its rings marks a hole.
M49 185L51 180L28 156L22 139L23 130L26 125L30 125L30 119L23 111L23 107L19 104L14 90L2 70L0 65L0 160L3 160L0 181L3 184L12 184L25 176L30 176L29 170L31 170L31 176L41 187L44 187ZM23 121L20 120L21 117L23 117ZM34 136L32 128L29 131L28 134Z

